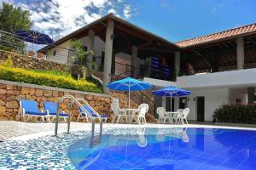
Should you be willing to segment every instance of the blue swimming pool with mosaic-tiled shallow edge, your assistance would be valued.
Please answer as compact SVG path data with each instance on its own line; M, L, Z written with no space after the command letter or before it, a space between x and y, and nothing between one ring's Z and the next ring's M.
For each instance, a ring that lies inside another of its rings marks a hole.
M0 169L256 169L256 131L224 128L106 128L0 143Z

